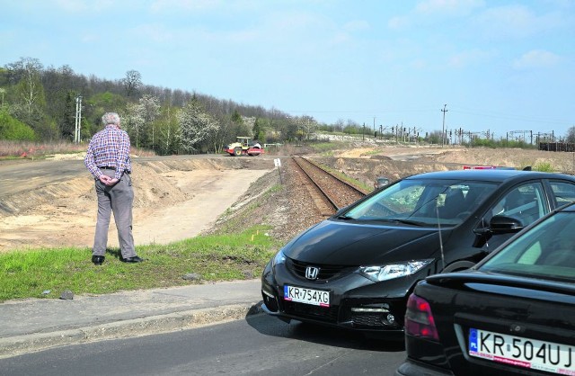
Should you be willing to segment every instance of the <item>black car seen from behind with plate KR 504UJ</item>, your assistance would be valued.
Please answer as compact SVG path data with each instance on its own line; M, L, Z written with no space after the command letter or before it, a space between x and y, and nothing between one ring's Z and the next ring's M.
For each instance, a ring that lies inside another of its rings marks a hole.
M575 205L471 270L420 282L405 316L408 375L575 375Z

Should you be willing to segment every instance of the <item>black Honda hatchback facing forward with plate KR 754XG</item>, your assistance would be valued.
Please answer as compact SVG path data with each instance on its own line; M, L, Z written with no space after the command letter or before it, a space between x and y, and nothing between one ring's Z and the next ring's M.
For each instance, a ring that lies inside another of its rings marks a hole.
M261 276L262 309L403 339L407 298L436 273L472 267L575 199L575 177L516 170L413 175L293 238Z

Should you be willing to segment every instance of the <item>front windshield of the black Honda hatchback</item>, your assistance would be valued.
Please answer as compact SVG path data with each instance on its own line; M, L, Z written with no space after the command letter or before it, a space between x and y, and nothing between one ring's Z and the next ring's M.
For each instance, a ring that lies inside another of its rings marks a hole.
M497 188L485 182L407 179L390 185L340 218L456 226Z

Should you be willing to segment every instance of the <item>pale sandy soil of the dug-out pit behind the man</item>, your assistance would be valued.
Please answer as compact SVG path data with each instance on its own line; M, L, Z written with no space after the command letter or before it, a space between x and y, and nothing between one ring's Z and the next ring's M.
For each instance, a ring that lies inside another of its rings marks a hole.
M137 245L166 244L194 237L269 170L195 169L153 174L140 166L133 174L134 239ZM42 202L20 215L0 216L0 252L50 246L92 246L96 217L93 180L78 177L71 194ZM111 222L109 245L118 246Z

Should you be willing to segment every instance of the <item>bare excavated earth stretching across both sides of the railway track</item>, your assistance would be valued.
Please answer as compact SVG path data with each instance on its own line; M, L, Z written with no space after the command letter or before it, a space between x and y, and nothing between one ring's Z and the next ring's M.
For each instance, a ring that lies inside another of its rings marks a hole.
M547 166L567 174L575 170L573 153L538 150L390 147L367 142L330 157L302 148L295 152L367 186L379 175L393 181L464 165ZM291 165L290 154L292 150L285 149L265 157L133 157L137 245L165 244L255 224L270 225L271 236L288 241L325 218L308 193L311 188ZM82 159L77 155L58 156L44 164L0 162L0 252L92 245L96 199ZM275 159L281 166L275 166ZM44 166L66 170L66 176L38 173ZM109 238L111 246L117 246L113 222Z

